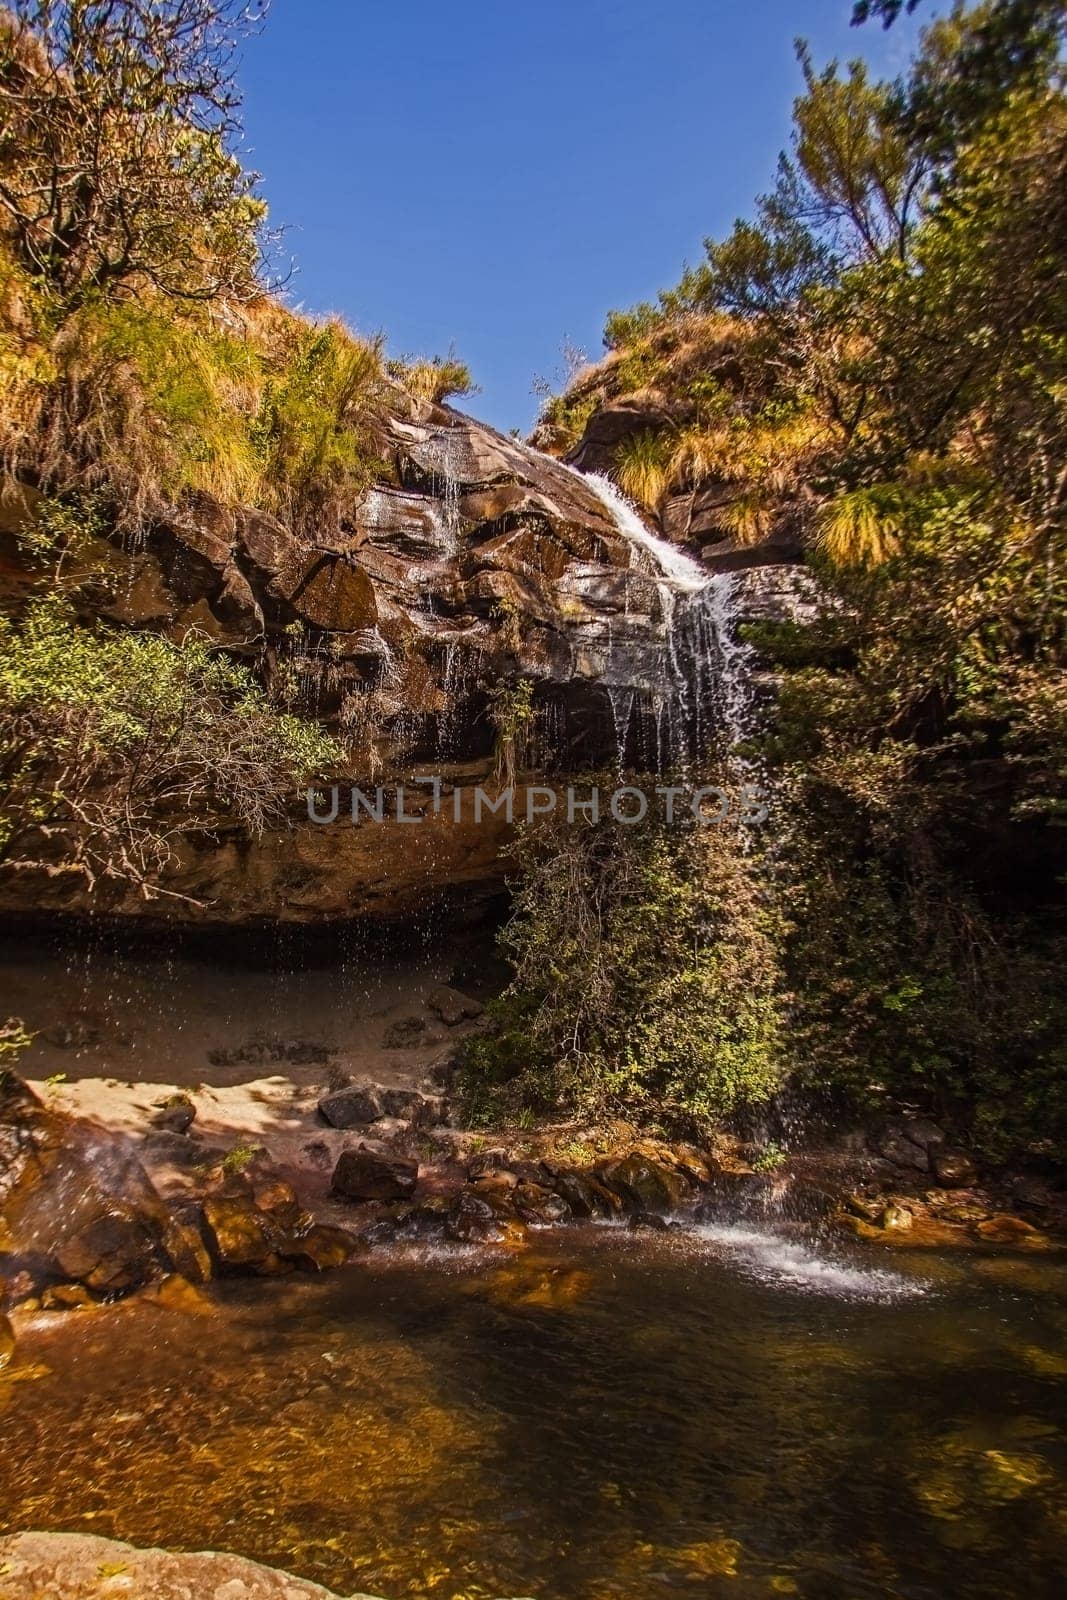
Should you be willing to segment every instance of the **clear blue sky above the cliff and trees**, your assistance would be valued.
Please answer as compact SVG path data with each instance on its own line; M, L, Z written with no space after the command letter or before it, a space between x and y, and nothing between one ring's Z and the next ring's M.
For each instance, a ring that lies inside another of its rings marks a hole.
M851 0L275 0L245 46L250 162L290 298L456 354L464 405L526 430L565 341L653 298L766 186L816 61L897 72L918 22ZM928 16L923 6L920 16Z

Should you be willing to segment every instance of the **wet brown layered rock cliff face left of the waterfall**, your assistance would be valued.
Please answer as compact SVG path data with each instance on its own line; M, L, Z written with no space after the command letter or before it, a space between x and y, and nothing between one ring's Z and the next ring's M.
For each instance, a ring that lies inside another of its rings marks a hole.
M477 909L499 890L504 816L459 826L408 794L419 826L395 821L405 774L488 781L494 696L528 685L520 770L565 773L613 760L611 691L661 682L667 630L653 558L576 470L448 406L398 397L389 472L342 534L301 539L246 507L186 504L144 544L99 539L86 605L133 627L198 629L258 662L304 714L341 730L347 774L386 787L382 826L293 827L250 842L190 834L168 886L187 899L152 915L253 925L411 915L442 894ZM8 536L10 538L10 536ZM14 541L10 541L14 546ZM10 568L18 584L18 562ZM752 606L781 582L750 584ZM498 718L499 720L499 714ZM522 789L517 797L522 810ZM0 882L0 912L86 909L64 880ZM107 910L144 914L133 893Z

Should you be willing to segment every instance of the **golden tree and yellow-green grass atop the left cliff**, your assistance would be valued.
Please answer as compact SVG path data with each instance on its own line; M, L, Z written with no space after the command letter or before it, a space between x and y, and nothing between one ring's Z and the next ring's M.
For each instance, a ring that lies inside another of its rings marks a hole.
M234 48L264 10L0 14L0 467L106 491L126 530L208 493L328 538L389 475L389 411L470 389L270 298L235 154Z

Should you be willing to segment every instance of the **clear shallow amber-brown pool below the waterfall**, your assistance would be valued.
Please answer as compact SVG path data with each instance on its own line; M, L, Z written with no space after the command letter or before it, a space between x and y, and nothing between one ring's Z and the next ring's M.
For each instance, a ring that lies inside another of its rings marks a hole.
M414 1248L42 1320L0 1520L350 1592L1005 1600L1067 1582L1067 1269L753 1229Z

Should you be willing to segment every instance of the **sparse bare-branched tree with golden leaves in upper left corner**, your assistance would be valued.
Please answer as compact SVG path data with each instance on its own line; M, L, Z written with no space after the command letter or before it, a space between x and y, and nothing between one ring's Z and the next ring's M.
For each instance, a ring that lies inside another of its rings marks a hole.
M264 203L234 154L245 0L13 0L0 14L0 222L59 315L152 285L256 291Z

